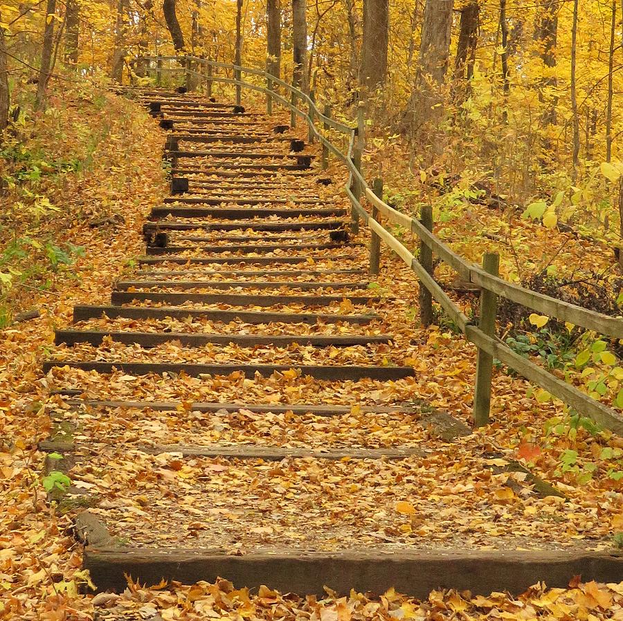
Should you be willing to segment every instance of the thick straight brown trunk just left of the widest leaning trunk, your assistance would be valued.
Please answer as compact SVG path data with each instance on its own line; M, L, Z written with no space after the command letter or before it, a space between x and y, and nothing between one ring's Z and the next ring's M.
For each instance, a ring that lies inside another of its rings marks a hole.
M372 92L385 83L389 31L389 0L363 0L363 43L359 83Z

